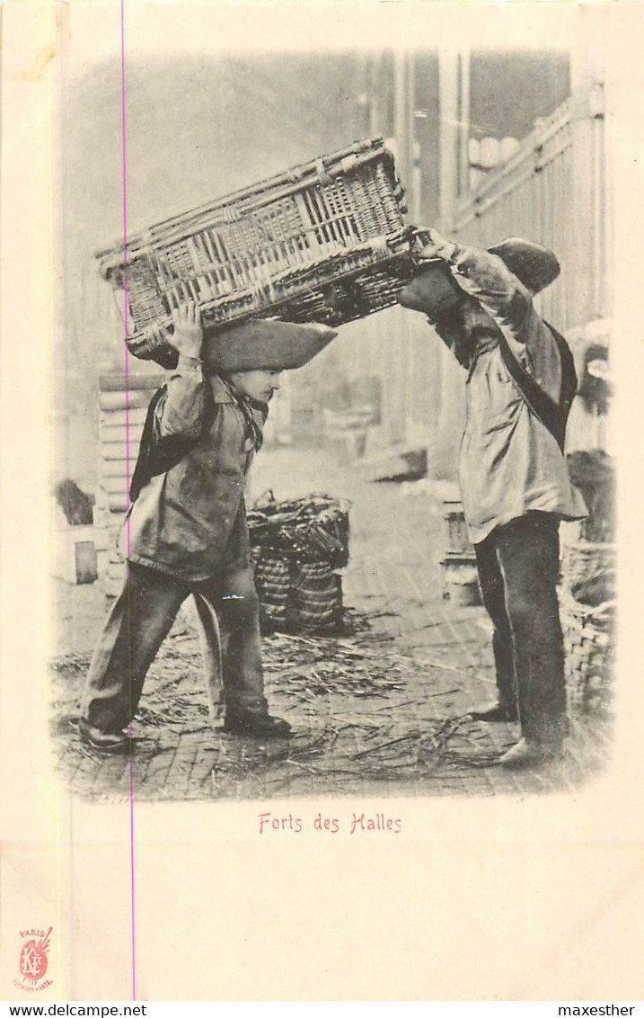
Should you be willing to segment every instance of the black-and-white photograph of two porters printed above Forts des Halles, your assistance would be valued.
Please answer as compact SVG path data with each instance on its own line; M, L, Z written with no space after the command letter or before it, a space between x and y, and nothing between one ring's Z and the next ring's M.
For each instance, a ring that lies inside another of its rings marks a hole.
M63 62L80 795L130 762L145 800L539 793L609 758L601 47L449 42Z

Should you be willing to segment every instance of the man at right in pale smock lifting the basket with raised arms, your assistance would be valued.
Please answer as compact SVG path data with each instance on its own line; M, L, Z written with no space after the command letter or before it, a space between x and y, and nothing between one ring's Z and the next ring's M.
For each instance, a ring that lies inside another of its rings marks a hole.
M497 685L497 699L471 716L520 722L505 766L548 766L562 758L567 724L559 523L585 515L563 452L573 358L532 300L560 266L548 248L520 238L487 250L436 230L428 239L401 302L427 316L467 371L459 477Z

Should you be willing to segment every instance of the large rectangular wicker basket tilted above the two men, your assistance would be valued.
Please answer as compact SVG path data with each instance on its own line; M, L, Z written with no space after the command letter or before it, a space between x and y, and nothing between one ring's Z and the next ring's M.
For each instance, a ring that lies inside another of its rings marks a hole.
M337 326L396 303L413 271L402 197L383 139L356 142L100 251L128 300L130 351L163 361L185 299L211 331L249 318Z

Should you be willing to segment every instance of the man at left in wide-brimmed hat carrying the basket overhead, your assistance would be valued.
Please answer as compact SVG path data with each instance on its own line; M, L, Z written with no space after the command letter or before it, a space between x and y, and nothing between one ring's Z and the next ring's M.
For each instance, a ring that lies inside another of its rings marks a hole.
M244 486L280 373L306 363L336 333L250 322L204 338L193 303L177 308L173 323L165 341L176 367L151 403L131 480L127 575L94 655L78 722L83 740L108 752L130 747L124 729L189 595L207 672L221 672L224 730L260 738L290 732L264 695ZM168 353L166 346L166 363Z

